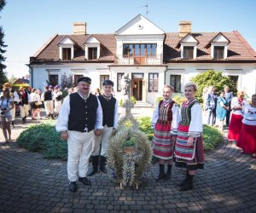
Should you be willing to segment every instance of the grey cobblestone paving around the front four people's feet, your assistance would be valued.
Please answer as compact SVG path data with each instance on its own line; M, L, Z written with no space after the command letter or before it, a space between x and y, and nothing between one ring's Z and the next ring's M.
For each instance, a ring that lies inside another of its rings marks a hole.
M256 212L256 159L241 154L225 137L206 153L205 170L198 172L191 191L178 190L175 183L184 171L176 168L170 181L154 181L158 165L153 164L138 190L120 190L98 173L89 177L92 186L78 182L79 190L70 193L66 161L45 159L15 143L29 124L40 122L28 119L23 125L18 118L14 141L0 143L0 212Z

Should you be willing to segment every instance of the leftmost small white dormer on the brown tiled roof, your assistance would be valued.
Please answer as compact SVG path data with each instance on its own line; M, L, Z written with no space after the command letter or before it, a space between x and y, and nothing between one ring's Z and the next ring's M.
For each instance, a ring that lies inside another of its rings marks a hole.
M73 60L74 42L69 37L64 37L59 45L60 59Z

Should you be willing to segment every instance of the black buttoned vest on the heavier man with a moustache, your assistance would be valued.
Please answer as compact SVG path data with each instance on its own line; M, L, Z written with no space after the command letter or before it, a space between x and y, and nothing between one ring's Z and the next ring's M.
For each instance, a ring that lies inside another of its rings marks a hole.
M90 94L84 99L79 93L73 93L70 97L70 112L68 116L68 130L83 132L85 128L90 130L95 129L96 112L98 101L95 95Z

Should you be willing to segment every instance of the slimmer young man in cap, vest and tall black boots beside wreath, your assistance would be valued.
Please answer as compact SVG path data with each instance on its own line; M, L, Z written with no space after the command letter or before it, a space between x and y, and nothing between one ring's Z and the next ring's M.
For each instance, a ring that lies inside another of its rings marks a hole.
M89 176L93 176L99 170L107 173L106 170L106 156L108 153L109 137L113 129L117 128L118 125L118 101L113 97L113 82L106 80L102 83L103 95L99 95L98 99L102 105L103 122L104 127L102 135L95 136L93 142L93 151L91 153L92 159L92 170ZM100 152L100 147L102 149Z

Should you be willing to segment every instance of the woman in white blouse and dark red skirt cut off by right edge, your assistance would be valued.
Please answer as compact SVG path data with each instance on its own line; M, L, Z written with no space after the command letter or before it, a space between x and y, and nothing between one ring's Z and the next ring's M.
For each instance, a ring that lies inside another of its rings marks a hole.
M252 96L252 103L242 108L241 133L236 146L241 153L253 154L256 158L256 94Z

